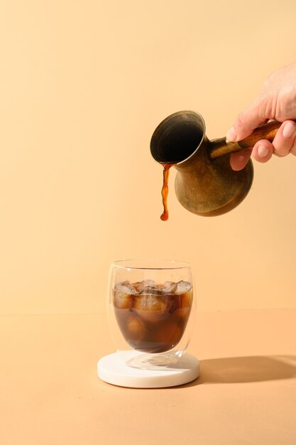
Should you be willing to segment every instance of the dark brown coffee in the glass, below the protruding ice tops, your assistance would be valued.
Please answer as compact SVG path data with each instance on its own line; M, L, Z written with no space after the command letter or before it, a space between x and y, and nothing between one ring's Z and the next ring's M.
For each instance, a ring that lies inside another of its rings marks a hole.
M180 342L191 306L192 289L179 295L126 295L121 300L114 296L122 335L131 348L145 353L163 353Z

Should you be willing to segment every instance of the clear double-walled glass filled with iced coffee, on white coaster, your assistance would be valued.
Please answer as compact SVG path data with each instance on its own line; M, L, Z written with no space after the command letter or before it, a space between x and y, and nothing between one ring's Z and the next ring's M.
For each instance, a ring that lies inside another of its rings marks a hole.
M190 264L124 259L111 264L109 326L126 365L175 365L185 353L195 315Z

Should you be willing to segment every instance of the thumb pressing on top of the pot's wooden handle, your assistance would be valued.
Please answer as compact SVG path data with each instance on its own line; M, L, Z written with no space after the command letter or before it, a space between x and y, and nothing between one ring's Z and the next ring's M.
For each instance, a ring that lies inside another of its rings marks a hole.
M254 129L271 118L266 114L266 107L262 102L253 102L253 104L236 117L233 127L231 127L226 134L226 139L236 142L249 136L253 133Z

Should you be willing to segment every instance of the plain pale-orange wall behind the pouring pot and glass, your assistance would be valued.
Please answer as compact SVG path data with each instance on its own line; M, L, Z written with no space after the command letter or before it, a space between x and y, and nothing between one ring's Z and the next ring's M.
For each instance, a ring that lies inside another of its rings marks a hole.
M255 164L233 212L160 221L150 136L200 112L210 138L295 59L295 1L0 4L0 313L104 311L109 264L192 263L198 307L296 308L296 159Z

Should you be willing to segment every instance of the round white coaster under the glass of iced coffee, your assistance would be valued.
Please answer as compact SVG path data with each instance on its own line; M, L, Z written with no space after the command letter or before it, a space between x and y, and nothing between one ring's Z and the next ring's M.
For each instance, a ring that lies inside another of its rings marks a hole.
M118 353L106 355L97 365L100 379L131 388L163 388L184 385L199 376L199 360L185 354L175 365L160 370L142 370L125 365Z

